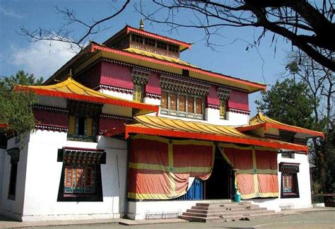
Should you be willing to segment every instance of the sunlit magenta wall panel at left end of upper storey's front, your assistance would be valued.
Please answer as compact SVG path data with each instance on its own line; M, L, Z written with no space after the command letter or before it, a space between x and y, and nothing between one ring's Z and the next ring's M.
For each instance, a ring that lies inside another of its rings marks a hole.
M100 84L132 90L131 69L126 66L102 62Z

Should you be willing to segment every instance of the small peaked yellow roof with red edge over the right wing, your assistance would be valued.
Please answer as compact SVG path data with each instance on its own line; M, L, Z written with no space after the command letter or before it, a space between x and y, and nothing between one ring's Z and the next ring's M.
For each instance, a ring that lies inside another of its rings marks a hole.
M264 128L265 131L267 131L269 128L285 130L285 131L292 131L295 133L304 134L306 138L316 137L316 136L321 136L322 138L324 138L324 133L320 131L312 131L310 129L295 127L295 126L291 126L291 125L288 125L282 122L278 122L274 119L266 117L264 114L261 114L261 112L258 112L256 116L252 117L249 120L248 125L237 127L236 129L244 132L244 131L252 131L255 129L259 129L259 128Z

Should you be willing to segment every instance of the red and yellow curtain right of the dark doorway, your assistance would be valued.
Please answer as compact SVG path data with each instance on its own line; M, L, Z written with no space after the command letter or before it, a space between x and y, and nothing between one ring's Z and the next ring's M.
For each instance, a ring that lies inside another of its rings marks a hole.
M276 149L229 143L220 143L219 148L235 170L235 188L242 199L278 197Z

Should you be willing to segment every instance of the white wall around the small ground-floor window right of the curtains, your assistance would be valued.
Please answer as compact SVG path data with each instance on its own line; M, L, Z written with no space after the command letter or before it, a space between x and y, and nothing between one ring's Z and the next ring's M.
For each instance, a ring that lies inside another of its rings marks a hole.
M288 209L305 209L312 207L311 191L310 191L310 163L308 156L305 154L295 153L295 158L282 158L281 153L277 156L278 163L300 163L298 172L299 198L281 199L281 172L278 172L278 199L254 199L255 204L266 207L271 210L281 211ZM245 200L248 201L248 200Z

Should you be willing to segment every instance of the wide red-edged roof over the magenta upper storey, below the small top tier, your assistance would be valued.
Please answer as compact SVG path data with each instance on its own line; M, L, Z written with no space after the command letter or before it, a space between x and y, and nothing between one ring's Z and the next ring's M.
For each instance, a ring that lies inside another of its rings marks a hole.
M233 88L240 88L246 90L248 93L265 90L266 88L262 83L255 83L233 76L225 76L223 74L201 69L184 61L177 61L177 59L162 58L158 54L146 54L143 51L134 49L129 51L112 49L96 42L91 42L83 52L77 54L76 57L68 61L52 77L47 79L45 84L52 83L54 79L61 80L66 78L69 69L73 69L74 72L80 72L100 58L112 59L114 61L121 61L127 64L134 64L135 66L157 69L159 71L178 75L182 75L183 70L188 70L189 78L198 78L204 81L231 86Z

